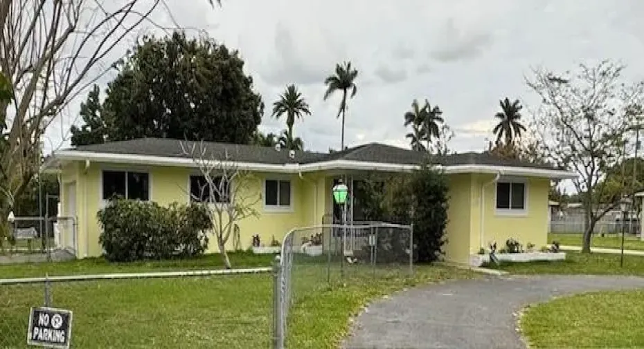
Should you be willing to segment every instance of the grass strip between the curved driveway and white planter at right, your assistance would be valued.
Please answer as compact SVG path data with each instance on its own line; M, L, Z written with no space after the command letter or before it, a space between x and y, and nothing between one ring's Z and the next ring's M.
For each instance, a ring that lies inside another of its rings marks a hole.
M624 256L620 267L619 254L582 254L567 252L565 261L501 262L488 267L506 270L512 274L611 274L644 276L644 256Z

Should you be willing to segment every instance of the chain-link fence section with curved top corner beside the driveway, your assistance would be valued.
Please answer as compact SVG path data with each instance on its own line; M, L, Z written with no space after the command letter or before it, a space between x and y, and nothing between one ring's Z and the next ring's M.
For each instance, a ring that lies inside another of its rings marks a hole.
M355 222L293 229L274 267L274 348L285 348L294 302L335 281L413 274L413 228Z

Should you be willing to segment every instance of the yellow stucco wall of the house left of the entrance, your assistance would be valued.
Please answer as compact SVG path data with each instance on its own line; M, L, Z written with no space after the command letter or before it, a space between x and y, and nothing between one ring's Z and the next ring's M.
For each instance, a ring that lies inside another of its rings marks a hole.
M98 243L100 227L96 214L102 208L102 180L103 169L143 171L150 175L150 200L159 205L167 206L172 202L187 203L189 201L189 176L198 174L195 169L181 167L136 167L132 165L118 165L92 162L84 170L84 163L74 162L62 169L61 202L63 215L69 214L65 203L64 184L75 182L76 209L78 218L78 257L98 256L102 249ZM263 192L265 179L287 179L291 181L292 209L274 210L264 206ZM259 218L249 217L240 221L240 245L247 249L251 245L252 236L260 234L262 244L269 245L271 238L282 240L283 236L294 227L320 224L328 206L327 196L330 197L330 188L325 188L327 180L321 174L317 175L288 175L271 173L253 173L248 182L244 196L247 202L254 202L253 209ZM316 197L317 191L317 197ZM250 193L250 194L249 194ZM208 252L217 252L217 243L213 236L208 246ZM229 238L226 249L233 249L233 238Z

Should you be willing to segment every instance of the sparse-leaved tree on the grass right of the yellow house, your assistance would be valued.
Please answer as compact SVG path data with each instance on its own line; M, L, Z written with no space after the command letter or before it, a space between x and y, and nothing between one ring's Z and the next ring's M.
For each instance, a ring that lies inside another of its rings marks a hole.
M582 252L590 252L598 220L619 204L618 199L602 202L607 186L599 184L627 155L627 131L637 123L633 107L641 104L644 91L643 82L621 82L624 68L605 60L596 66L581 64L577 73L563 76L534 69L534 77L526 79L542 100L533 127L541 151L579 175L573 184L584 205ZM621 189L625 195L634 191L624 185Z

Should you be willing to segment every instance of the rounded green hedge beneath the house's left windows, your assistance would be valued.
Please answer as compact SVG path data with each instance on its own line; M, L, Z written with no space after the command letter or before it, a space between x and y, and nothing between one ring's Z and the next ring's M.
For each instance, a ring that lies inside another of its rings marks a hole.
M213 223L199 204L161 207L117 198L98 211L99 243L108 261L190 257L208 249Z

